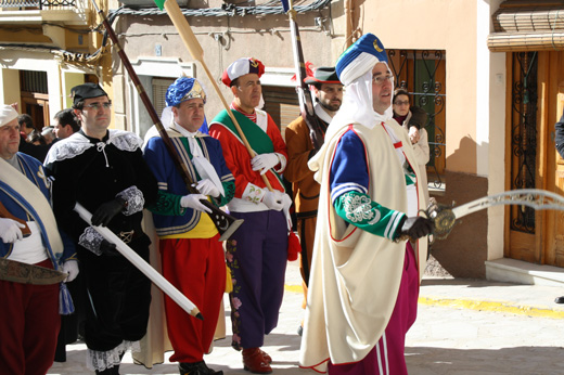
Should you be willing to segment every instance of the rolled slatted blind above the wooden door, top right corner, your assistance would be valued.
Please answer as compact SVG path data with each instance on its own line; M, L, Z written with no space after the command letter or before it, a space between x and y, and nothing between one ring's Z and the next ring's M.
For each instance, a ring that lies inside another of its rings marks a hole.
M507 0L491 17L490 51L564 51L563 0Z

